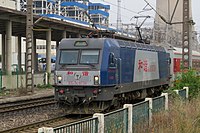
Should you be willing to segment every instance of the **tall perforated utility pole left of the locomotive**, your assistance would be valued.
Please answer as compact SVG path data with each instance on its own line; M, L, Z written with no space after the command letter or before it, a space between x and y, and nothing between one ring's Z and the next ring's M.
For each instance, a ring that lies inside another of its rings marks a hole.
M26 91L33 93L33 0L27 0L26 13Z

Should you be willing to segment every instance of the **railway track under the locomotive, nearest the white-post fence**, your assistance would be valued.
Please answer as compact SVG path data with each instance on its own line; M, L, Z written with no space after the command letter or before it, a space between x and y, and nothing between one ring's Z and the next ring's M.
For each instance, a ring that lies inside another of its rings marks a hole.
M88 116L87 116L87 118L88 118ZM60 117L45 120L45 121L40 121L40 122L36 122L36 123L32 123L32 124L28 124L28 125L24 125L24 126L20 126L20 127L8 129L8 130L3 130L3 131L0 131L0 133L37 133L38 128L40 128L40 127L44 127L44 126L58 127L61 125L79 121L81 119L86 119L86 117L80 118L80 116L79 116L79 118L77 118L75 116L70 116L70 115L60 116Z

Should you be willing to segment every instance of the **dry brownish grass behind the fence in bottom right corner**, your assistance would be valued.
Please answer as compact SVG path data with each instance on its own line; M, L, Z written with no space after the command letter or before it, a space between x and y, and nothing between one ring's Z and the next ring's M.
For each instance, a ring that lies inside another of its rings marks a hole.
M152 124L146 131L148 133L200 133L200 96L185 102L178 98L173 99L168 111L153 115Z

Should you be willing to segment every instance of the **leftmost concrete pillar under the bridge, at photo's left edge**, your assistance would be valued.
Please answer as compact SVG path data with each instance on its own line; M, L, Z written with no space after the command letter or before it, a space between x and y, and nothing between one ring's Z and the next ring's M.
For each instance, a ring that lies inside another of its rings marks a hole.
M5 66L6 66L6 36L5 34L2 34L2 71L5 72Z

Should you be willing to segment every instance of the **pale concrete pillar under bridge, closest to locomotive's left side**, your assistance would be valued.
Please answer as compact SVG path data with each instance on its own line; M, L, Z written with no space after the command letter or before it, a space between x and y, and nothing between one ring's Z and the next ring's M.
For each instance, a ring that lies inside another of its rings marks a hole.
M46 72L51 73L51 29L46 33Z

